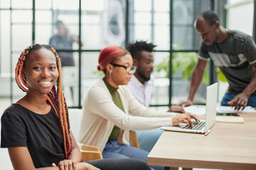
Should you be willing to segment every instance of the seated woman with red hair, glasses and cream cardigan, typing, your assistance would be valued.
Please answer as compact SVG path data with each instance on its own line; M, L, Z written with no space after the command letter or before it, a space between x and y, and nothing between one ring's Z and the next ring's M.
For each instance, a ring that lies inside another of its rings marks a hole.
M129 147L129 130L149 130L163 125L187 123L196 115L166 113L144 107L127 85L134 74L132 56L122 47L109 46L100 52L98 70L105 77L90 86L83 103L79 142L100 147L103 158L137 158L146 162L149 152ZM151 166L153 169L164 169Z

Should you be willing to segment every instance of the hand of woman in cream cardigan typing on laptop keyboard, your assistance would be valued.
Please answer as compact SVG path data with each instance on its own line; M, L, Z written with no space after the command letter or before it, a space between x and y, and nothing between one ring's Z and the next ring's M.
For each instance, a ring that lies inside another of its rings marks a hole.
M186 123L187 125L191 126L193 128L193 122L191 121L191 118L195 119L196 123L200 123L200 120L197 115L191 115L188 113L183 114L177 114L174 118L172 118L173 125L178 125L179 123Z

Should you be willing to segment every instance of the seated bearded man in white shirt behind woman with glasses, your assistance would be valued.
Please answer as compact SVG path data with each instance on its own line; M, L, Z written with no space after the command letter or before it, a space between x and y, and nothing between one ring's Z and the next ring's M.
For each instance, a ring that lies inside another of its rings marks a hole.
M154 76L151 74L154 69L154 47L156 45L147 43L146 41L136 41L129 43L127 46L127 50L132 55L133 64L137 67L127 87L132 95L146 107L149 107L154 85ZM169 112L185 113L181 106L171 106ZM150 152L162 132L163 130L160 130L160 128L154 130L137 130L139 147Z

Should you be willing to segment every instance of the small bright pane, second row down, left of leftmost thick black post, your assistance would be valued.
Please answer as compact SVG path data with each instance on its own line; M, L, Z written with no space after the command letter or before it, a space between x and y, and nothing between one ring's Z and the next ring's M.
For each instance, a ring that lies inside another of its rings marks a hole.
M12 13L12 22L13 23L32 23L32 11L25 10L13 10Z

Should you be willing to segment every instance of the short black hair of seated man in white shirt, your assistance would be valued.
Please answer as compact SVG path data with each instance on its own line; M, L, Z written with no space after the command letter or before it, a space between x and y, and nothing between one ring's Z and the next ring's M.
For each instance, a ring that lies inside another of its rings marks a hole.
M132 58L137 55L138 52L147 51L147 52L153 52L154 51L154 45L153 43L147 43L146 41L136 41L129 43L127 45L127 50L131 53Z

